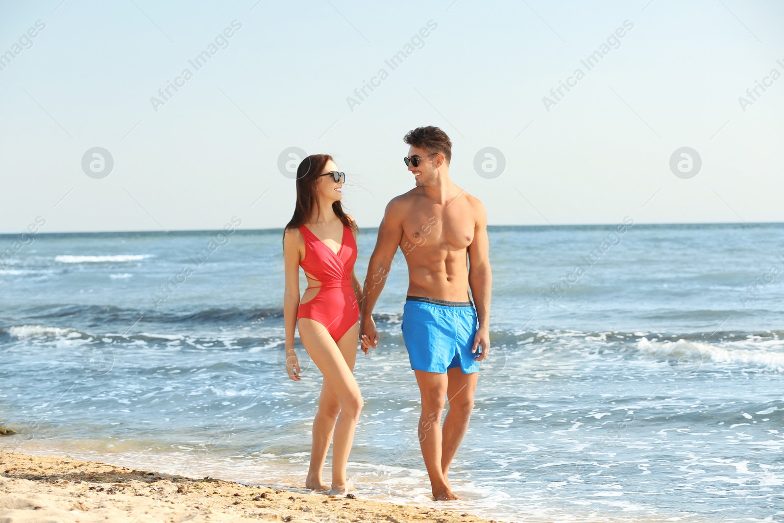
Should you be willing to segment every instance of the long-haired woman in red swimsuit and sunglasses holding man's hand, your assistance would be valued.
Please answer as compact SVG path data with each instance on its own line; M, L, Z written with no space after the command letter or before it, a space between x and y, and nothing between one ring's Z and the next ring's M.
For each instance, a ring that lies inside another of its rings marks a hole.
M354 380L362 288L354 274L357 224L343 212L343 181L328 154L311 154L299 164L296 208L283 234L286 372L300 381L294 327L310 359L324 375L313 421L313 449L305 486L346 494L346 463L354 441L362 396ZM299 267L307 289L299 299ZM332 444L332 487L321 469Z

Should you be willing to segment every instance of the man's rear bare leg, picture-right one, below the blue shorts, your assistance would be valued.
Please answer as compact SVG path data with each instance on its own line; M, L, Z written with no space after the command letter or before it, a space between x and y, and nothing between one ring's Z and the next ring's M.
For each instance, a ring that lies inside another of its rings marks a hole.
M444 419L441 441L441 473L449 486L447 473L452 459L468 430L471 411L474 409L474 392L477 390L479 372L463 374L458 367L447 371L447 398L449 410Z

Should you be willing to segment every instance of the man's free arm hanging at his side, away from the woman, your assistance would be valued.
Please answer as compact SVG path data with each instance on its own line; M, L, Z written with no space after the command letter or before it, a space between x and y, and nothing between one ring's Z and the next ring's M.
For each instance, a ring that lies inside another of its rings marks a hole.
M468 285L474 305L477 307L479 329L474 336L474 349L482 346L477 360L488 357L490 349L490 295L492 293L492 272L490 271L490 242L488 241L488 217L485 205L476 199L476 223L474 225L474 241L468 246Z

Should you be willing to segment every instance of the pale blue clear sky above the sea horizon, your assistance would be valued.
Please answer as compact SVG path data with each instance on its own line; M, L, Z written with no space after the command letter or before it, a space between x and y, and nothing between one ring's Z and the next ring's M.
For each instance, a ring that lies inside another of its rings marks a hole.
M189 60L234 20L197 71ZM780 221L784 78L746 111L739 96L784 74L782 22L772 0L0 2L0 53L13 55L0 60L0 232L36 216L44 232L216 229L232 216L282 227L288 147L334 155L346 208L376 227L413 187L402 137L419 125L451 136L452 178L491 224ZM381 68L352 111L347 97ZM543 96L577 68L585 77L547 111ZM82 170L91 147L114 159L103 179ZM484 147L502 152L500 176L474 169ZM702 158L690 179L670 171L680 147Z

